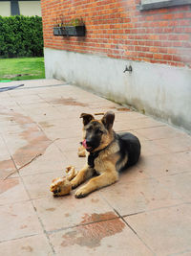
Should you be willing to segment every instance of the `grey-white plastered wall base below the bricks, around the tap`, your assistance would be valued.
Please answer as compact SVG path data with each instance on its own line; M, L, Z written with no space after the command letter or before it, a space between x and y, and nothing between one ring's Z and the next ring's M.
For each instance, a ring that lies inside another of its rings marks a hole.
M47 79L95 91L191 132L191 70L61 50L44 49ZM123 73L126 65L133 72Z

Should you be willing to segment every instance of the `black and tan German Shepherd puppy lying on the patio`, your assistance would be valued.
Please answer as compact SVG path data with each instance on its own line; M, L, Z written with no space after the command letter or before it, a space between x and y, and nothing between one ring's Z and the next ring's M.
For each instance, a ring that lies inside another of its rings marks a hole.
M101 120L86 113L80 117L83 119L82 145L89 155L86 166L71 181L73 189L96 176L75 192L75 198L84 198L116 182L118 173L135 165L140 155L140 143L135 135L129 132L116 133L113 130L114 112L106 112Z

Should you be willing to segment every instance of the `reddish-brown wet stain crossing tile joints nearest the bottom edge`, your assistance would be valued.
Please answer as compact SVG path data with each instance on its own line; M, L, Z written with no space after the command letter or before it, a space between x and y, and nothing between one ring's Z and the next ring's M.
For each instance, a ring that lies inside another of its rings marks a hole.
M93 221L93 223L84 224L86 221ZM115 236L117 233L122 232L124 227L125 223L117 218L113 212L85 215L79 226L62 236L64 241L61 245L71 246L77 244L95 248L100 246L103 238Z

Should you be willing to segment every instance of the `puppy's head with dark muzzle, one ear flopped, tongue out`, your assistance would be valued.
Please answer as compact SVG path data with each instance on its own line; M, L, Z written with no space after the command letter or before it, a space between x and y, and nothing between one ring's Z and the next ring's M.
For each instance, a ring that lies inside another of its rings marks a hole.
M100 151L111 143L114 137L114 112L106 112L101 120L86 113L82 113L80 117L83 118L84 125L82 145L87 151Z

